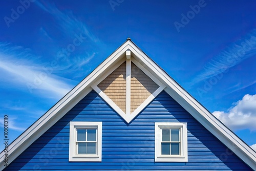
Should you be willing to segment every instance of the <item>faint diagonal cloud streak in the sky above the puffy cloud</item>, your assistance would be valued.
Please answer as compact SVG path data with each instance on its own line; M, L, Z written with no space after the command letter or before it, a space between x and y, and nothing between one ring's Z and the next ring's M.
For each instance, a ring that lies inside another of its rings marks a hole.
M192 81L195 84L202 80L216 76L229 68L238 65L246 58L256 55L256 29L229 45L225 50L206 63L203 71Z

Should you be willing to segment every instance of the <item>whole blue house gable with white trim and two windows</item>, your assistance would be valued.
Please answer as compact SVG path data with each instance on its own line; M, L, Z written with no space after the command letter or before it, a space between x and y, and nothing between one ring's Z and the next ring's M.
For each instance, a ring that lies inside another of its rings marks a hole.
M256 153L128 38L1 153L1 170L256 170Z

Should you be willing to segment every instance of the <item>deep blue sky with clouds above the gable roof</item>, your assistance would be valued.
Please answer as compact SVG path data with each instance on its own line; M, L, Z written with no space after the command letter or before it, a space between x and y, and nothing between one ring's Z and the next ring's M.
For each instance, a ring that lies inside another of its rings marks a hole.
M3 130L8 115L13 141L131 37L256 149L255 5L231 0L1 1L0 126Z

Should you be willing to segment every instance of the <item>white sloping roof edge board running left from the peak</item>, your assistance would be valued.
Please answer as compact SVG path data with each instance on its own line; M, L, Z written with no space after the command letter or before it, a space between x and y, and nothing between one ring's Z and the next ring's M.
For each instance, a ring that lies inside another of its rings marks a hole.
M37 138L44 134L50 127L64 116L73 106L86 96L92 88L94 80L104 74L105 69L111 68L125 56L125 51L129 48L129 41L124 42L114 53L106 58L91 74L84 78L74 89L59 100L47 113L33 123L22 135L8 146L8 164L18 157ZM0 154L0 170L4 169L4 151Z

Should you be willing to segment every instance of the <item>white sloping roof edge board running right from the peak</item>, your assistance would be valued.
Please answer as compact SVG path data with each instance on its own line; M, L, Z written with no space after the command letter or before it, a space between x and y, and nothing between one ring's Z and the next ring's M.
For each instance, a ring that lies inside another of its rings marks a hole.
M129 41L129 40L128 40ZM195 117L208 131L214 134L229 149L239 156L252 169L256 170L256 153L237 135L231 132L197 100L189 95L179 84L167 75L154 61L146 56L136 45L131 44L132 56L158 80L165 84L165 91L187 112Z

